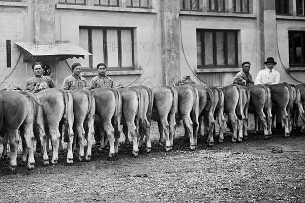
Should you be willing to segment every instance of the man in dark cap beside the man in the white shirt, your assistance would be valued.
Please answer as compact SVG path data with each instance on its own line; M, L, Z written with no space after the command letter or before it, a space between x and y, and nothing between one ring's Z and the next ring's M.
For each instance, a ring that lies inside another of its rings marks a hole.
M252 80L251 74L249 73L251 63L249 61L245 61L241 64L241 66L242 66L242 70L235 75L233 84L238 84L243 86L253 85L254 82Z

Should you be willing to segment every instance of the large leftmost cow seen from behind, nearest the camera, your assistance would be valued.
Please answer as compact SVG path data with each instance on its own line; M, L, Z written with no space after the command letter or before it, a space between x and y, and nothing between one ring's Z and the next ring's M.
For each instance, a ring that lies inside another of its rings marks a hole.
M10 141L11 160L10 170L15 171L17 165L17 150L19 144L18 129L23 143L22 162L26 162L28 154L27 168L35 168L34 160L34 132L33 126L36 120L36 105L42 105L32 93L23 91L4 91L1 92L3 98L3 126L1 135L3 139L2 159L7 156L7 139Z

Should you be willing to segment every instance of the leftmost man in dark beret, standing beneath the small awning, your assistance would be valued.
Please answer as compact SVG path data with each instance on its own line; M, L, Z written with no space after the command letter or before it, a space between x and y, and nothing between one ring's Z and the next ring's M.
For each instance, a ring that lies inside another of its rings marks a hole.
M24 90L31 89L34 85L38 83L47 83L46 88L56 87L55 82L50 78L43 76L43 64L41 62L36 62L32 65L34 72L34 77L27 79Z

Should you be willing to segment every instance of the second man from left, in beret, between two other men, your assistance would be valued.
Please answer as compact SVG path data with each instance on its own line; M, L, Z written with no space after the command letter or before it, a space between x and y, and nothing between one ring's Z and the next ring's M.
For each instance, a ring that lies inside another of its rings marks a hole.
M87 81L84 77L80 75L81 65L80 63L73 63L71 66L73 74L65 78L62 89L72 90L72 89L83 89L87 86Z

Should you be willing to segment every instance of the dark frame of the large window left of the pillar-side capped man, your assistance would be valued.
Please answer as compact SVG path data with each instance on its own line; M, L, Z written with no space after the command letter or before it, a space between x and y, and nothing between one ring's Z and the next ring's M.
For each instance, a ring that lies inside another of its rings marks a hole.
M200 37L201 37L201 60L202 65L197 64L197 69L219 69L219 68L232 68L232 67L238 67L238 30L234 29L196 29L196 35L197 31L200 31ZM204 32L212 32L212 39L213 39L213 65L205 65L205 46L204 46ZM216 32L223 32L224 33L224 49L226 50L224 52L225 56L225 64L224 65L217 65L217 43L216 43ZM228 64L228 41L227 41L227 33L228 32L234 32L235 37L235 64L229 65ZM197 41L196 41L197 43ZM198 61L198 59L197 59Z

